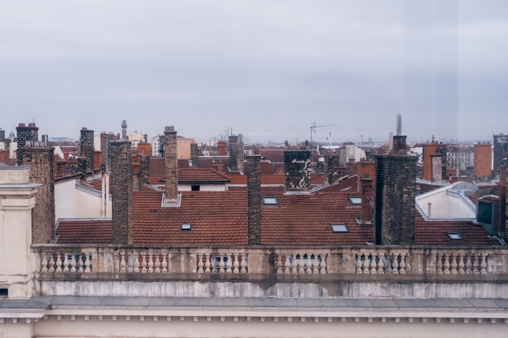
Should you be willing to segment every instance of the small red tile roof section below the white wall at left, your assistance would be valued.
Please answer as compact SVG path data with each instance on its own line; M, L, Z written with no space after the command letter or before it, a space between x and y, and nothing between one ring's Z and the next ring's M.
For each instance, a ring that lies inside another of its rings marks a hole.
M111 243L111 218L60 219L56 223L57 243Z

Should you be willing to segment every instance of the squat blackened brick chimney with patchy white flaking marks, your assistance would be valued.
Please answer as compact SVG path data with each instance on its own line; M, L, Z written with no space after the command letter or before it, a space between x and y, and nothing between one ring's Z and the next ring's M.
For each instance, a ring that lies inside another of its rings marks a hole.
M310 151L284 151L284 190L310 193Z

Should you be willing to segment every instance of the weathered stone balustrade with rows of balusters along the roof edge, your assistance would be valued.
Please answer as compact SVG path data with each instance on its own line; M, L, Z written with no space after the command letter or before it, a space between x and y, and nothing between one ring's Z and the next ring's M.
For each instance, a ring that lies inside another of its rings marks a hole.
M390 275L446 279L460 275L508 275L508 248L456 246L335 247L142 247L37 244L32 246L40 276L186 274L224 275ZM59 276L59 277L58 277ZM201 276L201 277L196 277ZM439 277L440 276L440 277ZM459 276L459 277L458 277ZM282 277L282 276L281 276ZM303 277L303 276L302 276ZM115 278L120 278L115 276ZM309 277L312 278L312 277ZM318 278L317 276L315 278ZM361 278L361 277L358 277ZM367 278L366 276L363 278ZM463 277L466 278L466 277Z

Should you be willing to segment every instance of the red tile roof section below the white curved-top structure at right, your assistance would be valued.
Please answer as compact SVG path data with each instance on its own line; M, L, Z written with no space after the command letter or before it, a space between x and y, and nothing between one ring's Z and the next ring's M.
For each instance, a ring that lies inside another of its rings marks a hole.
M451 240L447 233L458 233L462 240ZM418 213L415 218L415 244L436 245L499 245L495 238L487 237L488 233L480 224L472 221L429 220Z

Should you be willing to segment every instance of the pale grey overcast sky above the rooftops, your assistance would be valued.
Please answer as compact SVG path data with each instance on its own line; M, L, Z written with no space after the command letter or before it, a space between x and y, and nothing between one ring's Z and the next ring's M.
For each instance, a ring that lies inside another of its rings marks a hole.
M0 0L0 127L205 141L508 133L508 2Z

